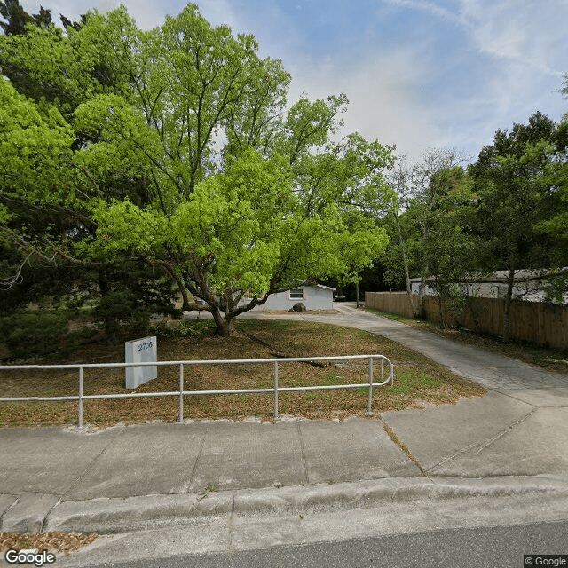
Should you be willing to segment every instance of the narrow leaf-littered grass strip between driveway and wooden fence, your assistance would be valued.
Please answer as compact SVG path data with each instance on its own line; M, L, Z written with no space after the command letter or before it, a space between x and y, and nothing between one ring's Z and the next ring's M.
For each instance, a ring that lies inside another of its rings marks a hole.
M488 334L477 334L469 329L458 329L455 327L441 329L438 324L432 323L431 321L405 318L404 316L399 316L396 313L379 312L378 310L373 310L371 308L366 308L365 311L383 316L383 318L400 321L408 326L419 327L420 329L430 331L431 333L443 335L448 339L468 343L469 345L473 345L481 349L496 351L503 355L507 355L508 357L514 357L525 361L525 363L545 368L548 371L568 373L568 351L547 349L546 347L540 347L531 343L503 343L500 337Z

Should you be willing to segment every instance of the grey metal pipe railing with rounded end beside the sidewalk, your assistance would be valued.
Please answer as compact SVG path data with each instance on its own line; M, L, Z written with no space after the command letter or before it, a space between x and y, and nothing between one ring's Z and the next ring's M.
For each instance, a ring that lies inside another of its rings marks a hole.
M368 359L369 363L369 382L360 384L334 384L325 386L312 386L312 387L280 387L279 386L279 364L280 363L296 363L296 362L310 362L310 361L337 361L337 360L351 360L351 359ZM389 366L389 376L381 383L374 383L373 376L373 360L379 359L381 361L381 378L383 379L384 364ZM274 364L274 387L272 389L235 389L235 390L184 390L184 367L197 366L197 365L237 365L237 364ZM87 368L105 368L105 367L166 367L171 365L179 366L179 390L171 392L132 392L130 394L96 394L85 395L83 394L83 375L84 369ZM2 365L0 371L10 370L26 370L26 369L79 369L79 394L78 396L68 397L7 397L0 398L0 402L62 402L62 401L79 401L79 428L83 428L83 401L84 400L98 400L101 398L151 398L151 397L179 397L179 421L184 421L184 397L187 396L201 396L201 395L216 395L216 394L253 394L253 393L266 393L272 392L274 394L274 418L278 419L278 395L280 392L290 392L293 390L339 390L339 389L360 389L368 388L369 398L367 404L367 412L365 414L373 414L372 411L372 398L373 389L375 387L382 387L385 384L392 384L394 379L394 367L389 359L384 355L342 355L338 357L295 357L295 358L281 358L281 359L201 359L201 360L188 360L188 361L152 361L147 363L85 363L75 365Z

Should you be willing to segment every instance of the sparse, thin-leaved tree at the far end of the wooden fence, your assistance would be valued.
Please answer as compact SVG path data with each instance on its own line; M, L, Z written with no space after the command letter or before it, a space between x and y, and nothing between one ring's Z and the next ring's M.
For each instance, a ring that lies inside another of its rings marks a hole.
M430 280L440 298L459 280L468 240L462 231L462 208L469 200L469 182L458 165L463 158L449 149L431 149L419 162L400 160L390 170L392 190L384 220L390 245L385 278L404 281L408 302L418 316L422 290ZM422 278L420 294L412 294L411 277Z

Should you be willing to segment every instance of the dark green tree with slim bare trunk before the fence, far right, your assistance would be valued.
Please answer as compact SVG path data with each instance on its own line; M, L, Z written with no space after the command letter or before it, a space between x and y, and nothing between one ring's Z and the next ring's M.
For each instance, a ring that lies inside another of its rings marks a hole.
M475 230L482 242L479 257L485 269L507 272L505 342L510 338L517 271L549 269L554 264L551 254L558 241L542 228L551 215L556 217L550 204L565 185L555 165L565 161L560 142L555 123L539 112L527 124L497 130L493 146L485 146L470 167L477 195Z

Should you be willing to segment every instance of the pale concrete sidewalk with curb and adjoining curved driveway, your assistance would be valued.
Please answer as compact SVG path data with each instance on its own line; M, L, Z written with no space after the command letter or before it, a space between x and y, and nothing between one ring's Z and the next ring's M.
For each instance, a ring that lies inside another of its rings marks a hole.
M350 306L299 317L388 336L490 391L343 423L0 430L0 531L120 533L184 518L419 496L568 496L568 376Z

